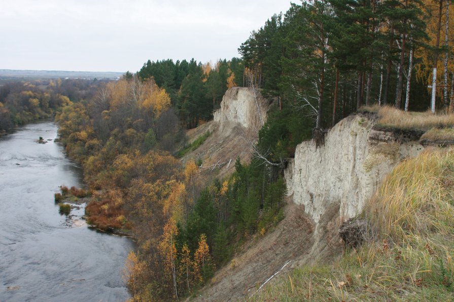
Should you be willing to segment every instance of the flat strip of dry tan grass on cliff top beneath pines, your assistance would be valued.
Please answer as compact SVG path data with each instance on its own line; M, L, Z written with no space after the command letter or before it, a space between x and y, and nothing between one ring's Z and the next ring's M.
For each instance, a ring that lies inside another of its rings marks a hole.
M403 111L391 106L380 107L378 105L363 106L359 111L377 113L376 125L383 128L428 131L431 128L454 126L454 114Z

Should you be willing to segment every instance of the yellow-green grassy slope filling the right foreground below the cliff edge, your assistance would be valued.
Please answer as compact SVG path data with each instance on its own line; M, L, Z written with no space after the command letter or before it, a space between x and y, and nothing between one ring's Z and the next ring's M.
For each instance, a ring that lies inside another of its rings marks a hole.
M368 242L281 275L251 300L454 300L454 149L399 164L361 215Z

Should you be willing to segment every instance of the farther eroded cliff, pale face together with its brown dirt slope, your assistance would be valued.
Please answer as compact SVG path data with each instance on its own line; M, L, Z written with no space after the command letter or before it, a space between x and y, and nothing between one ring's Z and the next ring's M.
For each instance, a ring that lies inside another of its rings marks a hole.
M206 131L211 135L183 161L200 158L202 173L217 170L218 178L231 174L238 156L242 162L250 161L250 146L257 141L268 107L268 102L258 92L241 87L229 89L222 98L221 108L214 114L214 120L187 132L190 142Z

